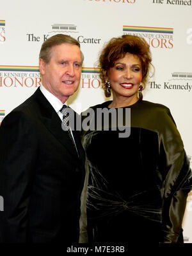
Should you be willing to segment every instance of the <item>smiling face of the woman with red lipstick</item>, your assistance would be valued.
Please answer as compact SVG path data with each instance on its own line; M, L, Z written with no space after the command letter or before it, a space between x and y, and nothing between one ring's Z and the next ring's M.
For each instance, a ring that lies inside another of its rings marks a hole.
M137 93L142 80L141 61L136 55L126 53L125 57L115 61L115 65L108 69L113 96L123 96L138 99Z

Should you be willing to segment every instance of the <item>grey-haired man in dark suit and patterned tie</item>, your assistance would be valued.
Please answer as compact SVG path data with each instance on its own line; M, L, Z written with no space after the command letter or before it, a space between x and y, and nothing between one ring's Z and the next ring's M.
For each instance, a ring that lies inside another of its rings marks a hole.
M79 131L70 138L61 129L60 109L79 86L82 62L76 39L47 39L42 85L1 123L1 242L78 242L84 151Z

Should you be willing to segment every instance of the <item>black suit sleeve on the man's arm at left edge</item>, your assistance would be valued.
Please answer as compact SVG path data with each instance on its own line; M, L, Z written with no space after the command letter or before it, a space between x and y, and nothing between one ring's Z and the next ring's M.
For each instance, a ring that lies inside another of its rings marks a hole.
M29 120L11 113L0 127L1 242L28 242L28 206L33 184L36 140Z

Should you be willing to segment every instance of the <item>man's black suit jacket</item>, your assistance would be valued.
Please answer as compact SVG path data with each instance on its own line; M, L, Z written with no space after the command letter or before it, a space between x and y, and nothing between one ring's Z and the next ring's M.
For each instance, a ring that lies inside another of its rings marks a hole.
M79 156L38 88L0 128L2 242L77 242L84 151Z

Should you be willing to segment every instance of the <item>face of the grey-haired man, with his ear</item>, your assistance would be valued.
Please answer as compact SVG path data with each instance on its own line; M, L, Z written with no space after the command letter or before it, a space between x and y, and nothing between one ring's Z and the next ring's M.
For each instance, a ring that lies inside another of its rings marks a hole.
M81 78L81 51L74 44L53 46L49 63L40 59L43 86L62 103L73 95Z

